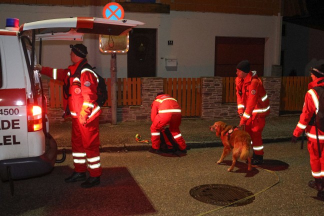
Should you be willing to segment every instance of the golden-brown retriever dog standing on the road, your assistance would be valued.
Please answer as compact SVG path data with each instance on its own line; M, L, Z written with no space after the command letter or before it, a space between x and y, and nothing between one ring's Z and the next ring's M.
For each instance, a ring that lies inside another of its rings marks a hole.
M251 136L246 131L241 129L234 130L232 125L226 125L226 123L222 121L216 121L213 125L209 126L209 129L215 131L217 137L220 136L221 142L224 145L223 152L217 164L221 163L232 150L232 164L227 171L231 171L234 168L238 157L242 160L247 159L247 170L252 169L251 157L253 155L253 150L251 147ZM230 131L231 129L234 131Z

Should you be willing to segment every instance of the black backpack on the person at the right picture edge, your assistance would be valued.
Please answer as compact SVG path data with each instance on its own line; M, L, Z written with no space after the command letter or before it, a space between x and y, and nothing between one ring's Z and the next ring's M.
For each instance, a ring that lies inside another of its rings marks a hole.
M316 86L313 89L318 95L318 111L310 119L310 125L315 125L321 131L324 131L324 86Z

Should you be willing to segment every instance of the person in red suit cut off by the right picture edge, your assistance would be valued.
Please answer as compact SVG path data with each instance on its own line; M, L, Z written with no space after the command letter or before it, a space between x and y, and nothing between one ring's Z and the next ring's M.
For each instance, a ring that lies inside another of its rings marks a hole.
M324 87L324 64L310 67L310 76L312 81L308 84L308 91L305 94L302 113L296 128L293 130L291 142L296 143L297 138L303 130L307 136L307 148L310 158L311 174L314 180L310 180L308 185L318 190L317 197L324 200L324 131L317 128L319 147L317 145L316 128L314 125L313 115L318 111L319 95L316 90L312 89L315 86ZM319 157L319 151L321 157Z

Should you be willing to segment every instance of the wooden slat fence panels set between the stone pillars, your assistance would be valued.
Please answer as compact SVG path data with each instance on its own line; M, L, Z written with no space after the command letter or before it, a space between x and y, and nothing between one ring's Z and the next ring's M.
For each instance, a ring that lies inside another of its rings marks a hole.
M200 78L163 78L163 90L176 98L182 109L182 116L200 116ZM281 78L280 111L300 111L310 77L284 76ZM110 78L105 78L108 100L104 106L111 106ZM49 81L49 107L63 107L62 82ZM141 105L141 79L117 78L117 105ZM223 77L223 103L236 103L235 77Z

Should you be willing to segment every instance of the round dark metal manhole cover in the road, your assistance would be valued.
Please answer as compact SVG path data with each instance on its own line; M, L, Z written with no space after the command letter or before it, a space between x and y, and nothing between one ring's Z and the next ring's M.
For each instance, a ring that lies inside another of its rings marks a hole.
M253 193L246 189L227 184L204 184L193 187L190 190L190 195L199 201L223 206L253 195ZM231 206L248 204L254 199L255 197L253 196L249 199L232 204Z

